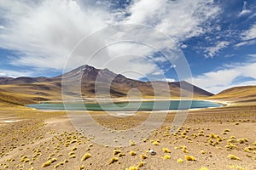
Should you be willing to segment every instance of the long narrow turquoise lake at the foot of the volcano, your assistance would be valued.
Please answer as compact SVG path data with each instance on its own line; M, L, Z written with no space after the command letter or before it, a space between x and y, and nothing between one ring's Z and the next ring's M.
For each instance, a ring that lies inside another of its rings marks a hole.
M195 108L220 107L217 103L202 100L167 100L167 101L143 101L143 102L118 102L104 104L85 103L41 103L26 105L38 110L67 110L67 111L167 111L188 110Z

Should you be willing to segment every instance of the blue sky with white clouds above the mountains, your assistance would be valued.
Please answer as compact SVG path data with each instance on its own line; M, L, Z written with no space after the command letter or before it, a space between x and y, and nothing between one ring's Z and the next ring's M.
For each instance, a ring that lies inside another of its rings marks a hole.
M0 77L88 64L218 94L256 85L255 47L255 0L0 0Z

